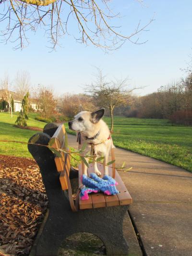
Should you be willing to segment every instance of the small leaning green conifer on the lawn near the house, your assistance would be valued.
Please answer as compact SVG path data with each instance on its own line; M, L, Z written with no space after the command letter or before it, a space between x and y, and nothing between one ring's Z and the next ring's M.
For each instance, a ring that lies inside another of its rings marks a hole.
M28 119L27 113L28 113L28 105L29 105L28 98L29 98L29 93L27 92L22 100L22 109L20 110L17 120L15 121L15 123L17 123L17 125L19 126L27 126L26 121Z

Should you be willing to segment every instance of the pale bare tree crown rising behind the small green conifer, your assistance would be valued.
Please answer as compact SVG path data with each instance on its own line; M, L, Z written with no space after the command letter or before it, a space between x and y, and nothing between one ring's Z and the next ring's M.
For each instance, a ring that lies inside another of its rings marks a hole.
M30 74L27 71L18 71L15 77L15 92L20 99L24 98L30 89Z

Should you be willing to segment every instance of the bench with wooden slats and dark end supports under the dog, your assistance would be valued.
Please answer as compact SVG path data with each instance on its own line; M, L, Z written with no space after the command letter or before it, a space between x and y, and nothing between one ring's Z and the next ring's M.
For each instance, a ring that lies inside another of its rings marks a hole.
M60 152L58 157L48 147L36 145L68 150L64 125L49 123L44 127L44 133L36 135L30 138L29 142L33 143L34 138L37 139L35 144L28 145L28 149L39 165L48 195L49 213L38 234L33 255L57 256L61 242L77 232L90 232L98 236L106 247L107 255L128 255L129 247L122 227L124 218L128 218L127 210L132 198L119 173L115 171L119 194L89 194L88 200L81 200L78 187L82 185L82 164L78 171L74 170L69 154ZM97 163L97 166L103 175L103 165ZM88 173L91 172L93 165L89 164ZM112 167L109 167L109 175L112 175ZM72 196L75 191L76 200Z

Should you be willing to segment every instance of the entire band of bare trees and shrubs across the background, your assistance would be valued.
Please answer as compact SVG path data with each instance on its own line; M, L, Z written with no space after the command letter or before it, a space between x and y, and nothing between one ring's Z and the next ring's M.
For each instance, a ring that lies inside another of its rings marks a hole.
M6 96L9 96L7 102L12 110L12 96L8 93L7 76L1 81L1 88L4 88L5 100ZM130 88L127 79L108 80L99 69L97 69L95 81L84 85L82 94L65 93L56 97L51 88L43 85L38 85L35 90L32 90L30 77L26 72L17 73L14 89L22 102L26 95L37 100L40 106L37 119L41 121L67 122L80 111L80 106L83 106L84 110L89 111L104 107L107 110L106 115L111 118L111 131L114 115L169 119L173 123L192 125L191 70L180 81L163 85L157 92L142 97L133 95L136 88ZM30 99L27 102L29 101ZM22 111L23 109L22 105ZM33 111L30 106L27 109Z

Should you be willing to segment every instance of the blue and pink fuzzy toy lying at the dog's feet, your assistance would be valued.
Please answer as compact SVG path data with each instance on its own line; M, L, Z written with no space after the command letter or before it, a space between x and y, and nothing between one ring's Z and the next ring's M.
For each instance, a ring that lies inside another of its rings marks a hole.
M116 195L119 193L115 185L118 183L110 176L104 175L103 179L99 178L95 173L90 174L91 178L86 175L81 176L84 187L81 188L81 200L89 199L89 193L103 192L106 195Z

